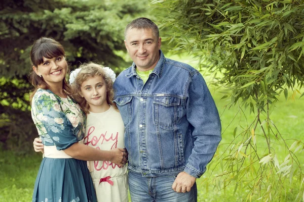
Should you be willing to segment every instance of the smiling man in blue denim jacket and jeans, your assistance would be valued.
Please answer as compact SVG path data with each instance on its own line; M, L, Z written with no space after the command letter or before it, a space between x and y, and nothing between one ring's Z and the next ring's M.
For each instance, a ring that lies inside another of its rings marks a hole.
M125 125L132 201L196 201L196 178L221 140L214 100L202 75L165 58L157 25L138 18L125 29L133 65L114 88Z

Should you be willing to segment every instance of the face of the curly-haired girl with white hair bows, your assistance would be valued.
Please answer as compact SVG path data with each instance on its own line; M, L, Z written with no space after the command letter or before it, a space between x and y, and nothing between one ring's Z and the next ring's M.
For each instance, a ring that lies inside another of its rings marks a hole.
M80 95L86 99L90 112L100 113L109 109L106 102L107 87L102 76L89 77L81 84Z

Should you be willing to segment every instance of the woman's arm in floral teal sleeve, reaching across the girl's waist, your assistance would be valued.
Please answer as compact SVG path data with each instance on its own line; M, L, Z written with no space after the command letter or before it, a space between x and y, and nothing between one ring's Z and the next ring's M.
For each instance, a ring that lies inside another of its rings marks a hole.
M59 100L48 90L41 90L35 93L32 111L34 116L41 122L40 127L45 128L46 136L49 137L49 141L52 141L57 150L63 150L74 159L111 161L119 166L126 164L127 153L122 148L107 151L79 143L78 137L75 135L78 131L74 130L73 125L66 116L66 112L60 107ZM37 141L39 142L39 140ZM36 150L41 149L40 144L36 144L36 146Z

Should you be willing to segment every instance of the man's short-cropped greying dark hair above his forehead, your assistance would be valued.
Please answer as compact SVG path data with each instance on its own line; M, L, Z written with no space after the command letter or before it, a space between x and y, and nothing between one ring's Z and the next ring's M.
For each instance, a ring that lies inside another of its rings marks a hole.
M151 29L157 38L160 37L160 31L159 31L158 26L153 21L151 21L150 19L137 18L137 19L133 20L132 22L130 22L125 29L125 39L126 39L127 32L130 29L133 29L133 28L135 28L135 29Z

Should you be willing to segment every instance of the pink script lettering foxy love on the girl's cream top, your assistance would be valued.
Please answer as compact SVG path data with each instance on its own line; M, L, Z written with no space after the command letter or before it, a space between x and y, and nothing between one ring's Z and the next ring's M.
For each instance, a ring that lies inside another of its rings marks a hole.
M94 126L91 126L89 128L88 135L84 138L84 143L86 145L92 145L97 149L100 149L100 147L102 147L103 150L117 148L118 132L116 134L111 133L111 135L107 137L107 131L105 131L104 134L101 133L100 135L93 135L92 133L94 130ZM102 165L100 166L101 163ZM116 167L121 168L119 165L113 164L110 161L94 161L94 168L97 171L107 170L109 167L112 167L113 169Z

